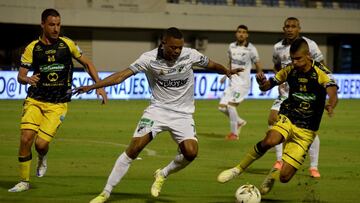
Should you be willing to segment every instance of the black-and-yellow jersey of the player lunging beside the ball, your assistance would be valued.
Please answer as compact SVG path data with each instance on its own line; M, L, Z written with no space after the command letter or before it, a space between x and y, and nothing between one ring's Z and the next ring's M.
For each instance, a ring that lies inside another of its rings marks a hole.
M312 61L307 72L292 65L281 69L274 77L277 84L288 82L289 97L281 104L280 114L298 127L317 131L326 101L326 88L337 86L331 72L323 64Z

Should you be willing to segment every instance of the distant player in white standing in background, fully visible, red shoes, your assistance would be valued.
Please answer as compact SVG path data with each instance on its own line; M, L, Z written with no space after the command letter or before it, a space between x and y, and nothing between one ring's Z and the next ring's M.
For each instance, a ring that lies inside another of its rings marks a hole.
M218 109L230 119L227 140L238 140L241 128L246 125L246 121L240 118L236 108L249 94L252 64L255 64L257 73L262 72L259 54L255 46L248 41L248 27L239 25L235 37L236 42L232 42L228 49L229 68L243 68L244 71L231 76L218 106ZM220 82L224 83L225 80L226 76Z

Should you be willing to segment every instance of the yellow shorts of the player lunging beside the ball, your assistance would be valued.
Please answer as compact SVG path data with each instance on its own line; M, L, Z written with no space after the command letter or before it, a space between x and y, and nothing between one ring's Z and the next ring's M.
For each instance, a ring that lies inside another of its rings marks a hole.
M305 161L306 154L316 136L316 132L295 126L289 118L282 114L279 115L279 120L271 130L280 132L285 139L282 159L296 169L299 169Z

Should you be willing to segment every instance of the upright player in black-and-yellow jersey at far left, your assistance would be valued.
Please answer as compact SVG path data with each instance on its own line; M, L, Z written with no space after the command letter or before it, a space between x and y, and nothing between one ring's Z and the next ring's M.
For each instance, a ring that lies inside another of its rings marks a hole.
M45 175L49 143L64 120L67 102L71 100L74 67L72 58L85 67L95 82L99 81L93 63L82 54L80 48L69 38L59 36L60 27L59 12L55 9L44 10L41 15L42 35L25 48L21 57L18 81L31 86L24 102L20 124L20 182L9 189L9 192L29 189L31 147L34 142L38 152L36 175ZM32 76L28 76L30 69L34 71ZM106 103L104 89L97 89L96 93Z

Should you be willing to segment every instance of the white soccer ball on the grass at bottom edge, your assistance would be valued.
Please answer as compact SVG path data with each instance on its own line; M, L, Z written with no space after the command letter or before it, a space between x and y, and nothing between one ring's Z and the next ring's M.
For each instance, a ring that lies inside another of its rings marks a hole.
M240 186L235 192L236 203L260 203L259 190L251 184Z

